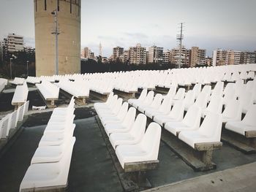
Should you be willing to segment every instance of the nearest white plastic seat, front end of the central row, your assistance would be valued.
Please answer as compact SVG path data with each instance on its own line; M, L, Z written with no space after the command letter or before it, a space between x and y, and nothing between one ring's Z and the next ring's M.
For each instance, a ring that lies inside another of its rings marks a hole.
M126 163L157 160L160 139L161 127L157 123L150 123L138 144L118 145L116 156L122 168Z

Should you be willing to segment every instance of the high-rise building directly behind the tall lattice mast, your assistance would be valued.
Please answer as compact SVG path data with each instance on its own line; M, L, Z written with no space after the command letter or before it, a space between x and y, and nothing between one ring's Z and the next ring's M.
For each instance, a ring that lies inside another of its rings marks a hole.
M179 51L180 51L179 47L176 47L172 49L170 52L170 62L172 64L176 64L176 66L178 66L178 63L179 63L178 62L180 57ZM189 66L189 53L190 53L190 50L186 49L184 46L181 47L181 66L183 65Z

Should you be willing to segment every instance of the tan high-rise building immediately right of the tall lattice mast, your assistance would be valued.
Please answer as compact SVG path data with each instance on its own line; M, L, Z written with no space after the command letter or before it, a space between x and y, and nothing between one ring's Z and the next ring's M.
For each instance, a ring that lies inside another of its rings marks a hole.
M189 53L189 66L204 65L206 63L206 50L199 47L191 47Z

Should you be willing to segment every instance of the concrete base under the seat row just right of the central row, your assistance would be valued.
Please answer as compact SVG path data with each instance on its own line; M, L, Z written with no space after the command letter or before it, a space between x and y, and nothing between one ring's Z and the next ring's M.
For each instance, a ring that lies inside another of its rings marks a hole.
M222 146L221 142L195 144L195 149L182 142L178 137L170 134L162 128L161 139L173 150L186 164L192 167L195 172L216 169L217 165L212 160L213 151Z

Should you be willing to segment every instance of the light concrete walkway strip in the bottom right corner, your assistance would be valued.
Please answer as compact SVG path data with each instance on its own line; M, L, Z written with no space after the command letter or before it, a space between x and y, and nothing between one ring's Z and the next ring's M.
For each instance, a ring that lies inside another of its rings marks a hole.
M205 174L189 180L182 180L169 185L151 188L147 191L181 192L181 191L255 191L256 190L256 162L226 169L221 172Z

